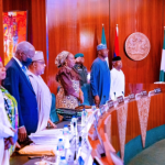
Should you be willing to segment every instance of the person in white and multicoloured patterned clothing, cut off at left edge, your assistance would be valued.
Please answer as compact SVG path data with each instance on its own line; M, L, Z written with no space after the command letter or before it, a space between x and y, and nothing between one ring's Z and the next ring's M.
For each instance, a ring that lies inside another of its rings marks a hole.
M18 130L18 105L1 85L4 78L6 68L0 58L0 164L9 165L9 158L14 151L14 142L16 142L14 132Z

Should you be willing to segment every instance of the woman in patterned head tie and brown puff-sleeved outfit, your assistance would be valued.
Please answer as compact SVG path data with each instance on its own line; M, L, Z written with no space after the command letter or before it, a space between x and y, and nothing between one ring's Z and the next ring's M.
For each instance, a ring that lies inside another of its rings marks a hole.
M79 85L79 75L74 70L75 57L72 53L63 51L55 59L59 68L56 80L61 84L56 96L56 108L75 109L78 101L84 102L84 95Z

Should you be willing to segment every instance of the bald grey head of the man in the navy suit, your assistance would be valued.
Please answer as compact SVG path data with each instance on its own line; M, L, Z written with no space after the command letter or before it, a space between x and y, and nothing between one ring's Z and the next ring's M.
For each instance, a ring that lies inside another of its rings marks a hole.
M31 43L23 41L18 44L15 51L15 57L18 57L19 61L26 62L26 58L32 58L34 54L35 54L35 48Z

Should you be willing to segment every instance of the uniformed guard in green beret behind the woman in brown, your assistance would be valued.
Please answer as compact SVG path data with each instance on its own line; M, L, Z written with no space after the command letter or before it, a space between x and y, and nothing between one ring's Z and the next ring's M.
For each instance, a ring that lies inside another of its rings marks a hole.
M76 59L76 64L74 68L79 74L79 77L80 77L79 82L80 82L80 86L82 86L84 84L87 84L87 75L88 75L87 67L84 66L84 63L85 63L84 54L77 53L75 55L75 59Z

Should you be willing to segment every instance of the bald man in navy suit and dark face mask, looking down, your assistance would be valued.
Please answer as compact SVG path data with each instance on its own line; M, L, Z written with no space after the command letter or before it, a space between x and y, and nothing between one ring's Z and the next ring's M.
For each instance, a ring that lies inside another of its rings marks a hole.
M36 97L26 74L26 66L34 54L33 45L21 42L16 46L15 55L6 66L7 78L3 85L18 101L20 142L36 131L38 122Z

